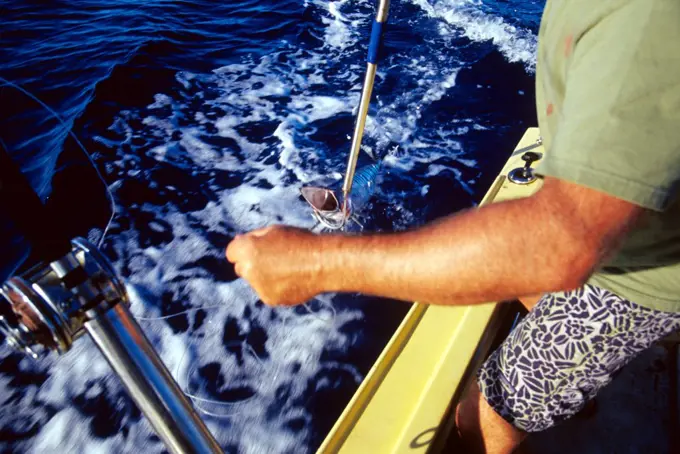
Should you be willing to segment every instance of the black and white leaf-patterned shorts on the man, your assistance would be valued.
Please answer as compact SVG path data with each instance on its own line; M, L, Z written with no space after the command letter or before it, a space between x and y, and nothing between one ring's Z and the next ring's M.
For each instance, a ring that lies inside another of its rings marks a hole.
M477 382L506 421L539 432L578 413L613 374L680 330L680 313L586 285L545 295L484 363Z

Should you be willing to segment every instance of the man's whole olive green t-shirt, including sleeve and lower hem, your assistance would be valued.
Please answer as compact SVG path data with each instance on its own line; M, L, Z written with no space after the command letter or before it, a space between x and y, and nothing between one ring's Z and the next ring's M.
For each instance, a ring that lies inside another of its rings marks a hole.
M588 283L680 312L680 0L548 0L536 104L538 173L648 209Z

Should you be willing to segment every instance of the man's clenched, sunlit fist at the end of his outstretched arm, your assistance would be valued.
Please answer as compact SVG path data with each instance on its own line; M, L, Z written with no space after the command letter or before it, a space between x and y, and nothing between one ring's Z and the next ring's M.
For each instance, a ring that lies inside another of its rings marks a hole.
M227 260L264 303L294 306L323 291L317 238L293 227L266 227L234 238L227 246Z

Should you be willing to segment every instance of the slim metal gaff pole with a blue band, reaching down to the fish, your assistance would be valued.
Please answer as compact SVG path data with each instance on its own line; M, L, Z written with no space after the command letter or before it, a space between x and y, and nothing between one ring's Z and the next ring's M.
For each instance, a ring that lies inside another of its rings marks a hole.
M364 136L364 128L366 127L368 106L371 103L371 94L373 92L373 84L375 82L375 73L378 69L378 47L380 45L383 25L385 22L387 22L389 8L390 0L380 0L380 3L378 4L378 13L376 14L375 22L373 22L373 28L371 29L371 42L368 46L366 77L364 78L364 86L361 91L359 112L357 113L357 122L354 126L352 146L350 149L349 159L347 161L345 182L342 185L342 193L344 197L343 203L345 204L347 203L350 192L352 191L354 172L357 168L357 160L359 159L359 151L361 150L361 139Z

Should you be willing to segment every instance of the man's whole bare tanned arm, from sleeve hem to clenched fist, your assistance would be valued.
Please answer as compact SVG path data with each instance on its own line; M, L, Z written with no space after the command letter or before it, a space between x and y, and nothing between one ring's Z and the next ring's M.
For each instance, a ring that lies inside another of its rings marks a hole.
M327 291L435 304L499 301L581 286L642 208L554 178L526 199L396 234L312 235L267 228L239 236L227 258L265 303Z

